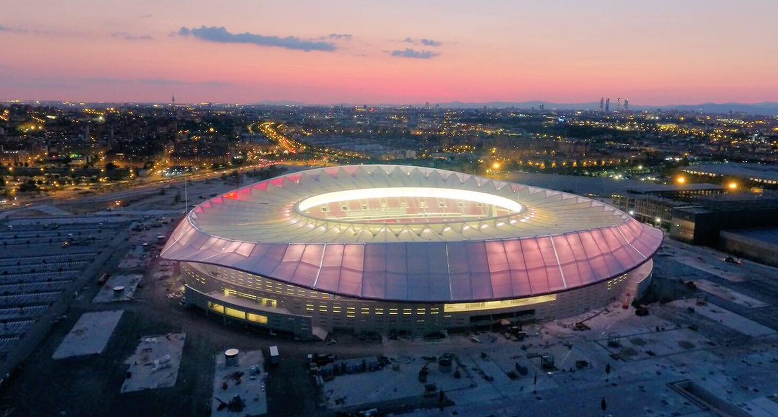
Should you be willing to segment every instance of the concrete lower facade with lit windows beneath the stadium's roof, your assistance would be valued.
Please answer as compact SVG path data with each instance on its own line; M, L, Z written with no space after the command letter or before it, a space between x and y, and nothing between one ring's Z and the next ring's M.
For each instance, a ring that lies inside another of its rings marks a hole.
M648 261L633 272L614 279L556 293L555 300L526 303L526 299L519 299L516 305L504 308L456 312L447 311L445 303L360 300L321 293L214 265L184 262L181 273L190 306L207 310L209 314L225 314L215 311L209 304L217 303L218 306L260 314L267 317L267 323L254 324L291 333L297 338L312 338L314 327L328 332L389 334L404 331L412 335L426 335L433 331L489 325L499 318L550 321L571 317L614 300L622 300L625 293L635 296L640 292L641 285L650 282L652 266L653 263Z

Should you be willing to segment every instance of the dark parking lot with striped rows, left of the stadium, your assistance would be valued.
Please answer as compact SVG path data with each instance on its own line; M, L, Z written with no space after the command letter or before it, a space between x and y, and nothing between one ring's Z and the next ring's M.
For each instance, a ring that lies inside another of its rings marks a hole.
M0 229L0 369L9 372L65 305L79 297L125 223L100 219L14 219Z

